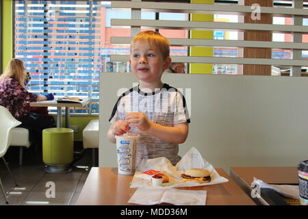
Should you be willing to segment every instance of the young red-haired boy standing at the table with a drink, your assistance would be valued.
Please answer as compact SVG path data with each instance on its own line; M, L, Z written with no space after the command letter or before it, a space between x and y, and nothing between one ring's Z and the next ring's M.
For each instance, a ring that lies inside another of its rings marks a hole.
M179 144L188 136L190 118L184 96L162 83L162 73L171 63L169 42L155 31L143 31L131 41L131 71L139 85L131 88L116 102L107 137L138 133L136 164L142 159L166 157L175 165L181 157Z

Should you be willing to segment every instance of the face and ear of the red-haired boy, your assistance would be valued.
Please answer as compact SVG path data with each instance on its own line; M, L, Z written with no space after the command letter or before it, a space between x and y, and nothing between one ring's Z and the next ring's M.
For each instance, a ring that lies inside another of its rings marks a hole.
M170 57L162 57L158 48L152 47L149 42L137 41L131 47L129 64L133 75L140 81L155 83L160 81L162 73L170 65Z

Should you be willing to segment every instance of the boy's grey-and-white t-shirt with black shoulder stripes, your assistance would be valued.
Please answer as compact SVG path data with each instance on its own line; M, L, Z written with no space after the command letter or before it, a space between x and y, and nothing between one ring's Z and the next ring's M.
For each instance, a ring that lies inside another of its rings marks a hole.
M155 92L142 92L139 86L133 87L123 93L112 111L110 122L125 120L129 112L142 112L149 120L159 125L173 127L179 123L190 123L185 98L176 88L164 83L163 88ZM136 127L130 127L130 133L140 134L136 164L142 159L166 157L175 165L181 157L178 155L179 144L166 142Z

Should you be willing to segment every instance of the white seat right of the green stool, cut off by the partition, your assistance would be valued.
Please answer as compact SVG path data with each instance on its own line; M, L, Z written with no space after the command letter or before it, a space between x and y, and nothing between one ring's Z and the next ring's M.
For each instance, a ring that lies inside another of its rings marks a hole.
M92 164L95 164L95 149L99 148L99 120L90 120L82 131L84 149L92 149Z

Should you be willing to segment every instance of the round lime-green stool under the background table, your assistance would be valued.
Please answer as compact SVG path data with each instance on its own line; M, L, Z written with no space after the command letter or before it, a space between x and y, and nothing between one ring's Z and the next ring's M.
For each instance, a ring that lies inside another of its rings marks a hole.
M74 157L74 131L51 128L42 131L42 157L46 172L69 172Z

